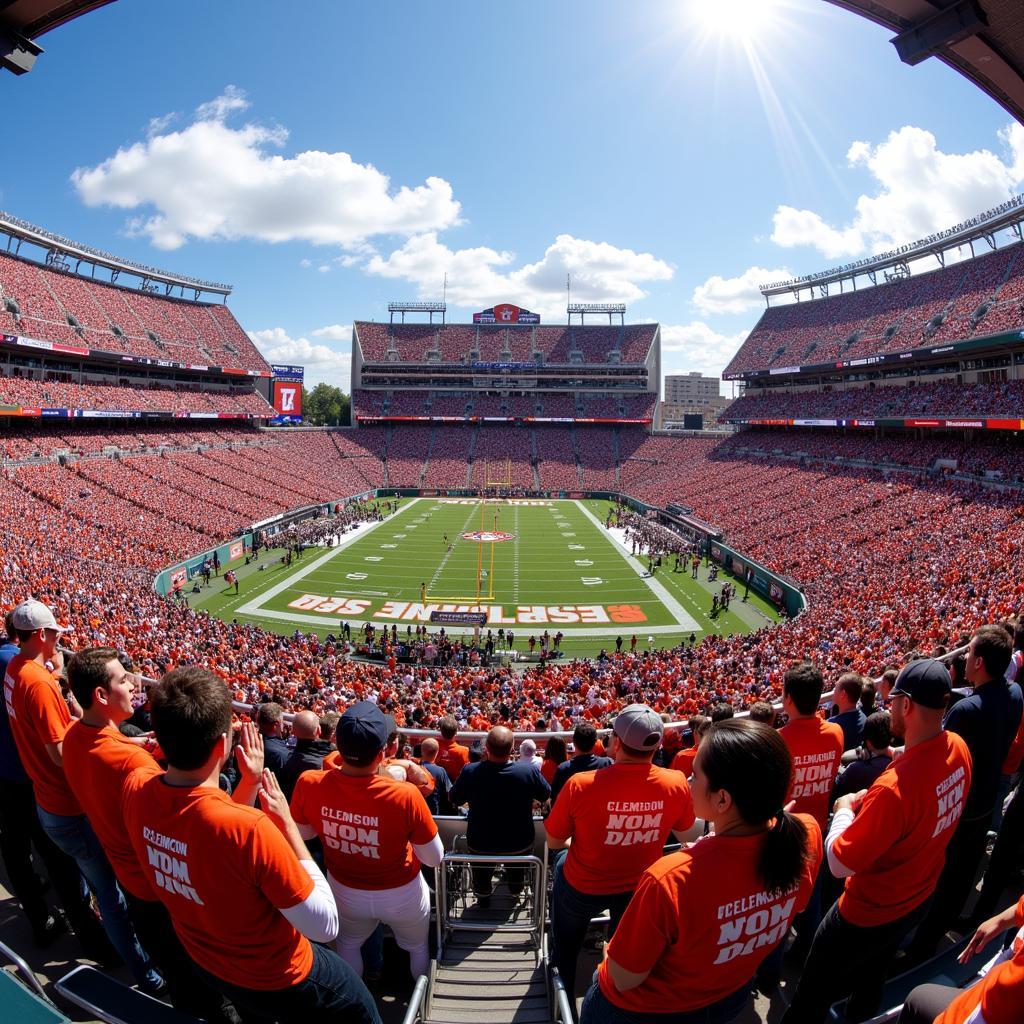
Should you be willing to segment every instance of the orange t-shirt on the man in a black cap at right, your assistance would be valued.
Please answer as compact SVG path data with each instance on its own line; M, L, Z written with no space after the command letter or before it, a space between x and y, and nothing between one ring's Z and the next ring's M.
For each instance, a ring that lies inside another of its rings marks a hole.
M874 780L833 845L856 872L839 900L850 924L896 921L934 892L970 787L971 755L954 732L911 746Z

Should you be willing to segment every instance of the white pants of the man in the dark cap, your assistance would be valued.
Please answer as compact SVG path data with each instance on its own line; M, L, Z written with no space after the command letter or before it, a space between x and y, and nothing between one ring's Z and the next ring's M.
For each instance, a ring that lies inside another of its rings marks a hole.
M397 889L350 889L330 872L327 877L338 904L338 955L362 977L359 947L378 923L394 932L399 947L409 953L414 978L427 974L430 965L430 890L423 876Z

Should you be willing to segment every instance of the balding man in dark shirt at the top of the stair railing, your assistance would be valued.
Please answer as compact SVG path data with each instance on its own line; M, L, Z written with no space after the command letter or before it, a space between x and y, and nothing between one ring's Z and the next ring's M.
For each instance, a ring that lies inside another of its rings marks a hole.
M545 801L551 786L532 764L511 762L513 736L497 725L487 733L483 760L466 765L452 786L452 805L469 804L466 842L470 853L523 856L534 852L534 801ZM523 871L506 872L509 891L522 891ZM473 868L473 892L483 907L490 903L494 870Z

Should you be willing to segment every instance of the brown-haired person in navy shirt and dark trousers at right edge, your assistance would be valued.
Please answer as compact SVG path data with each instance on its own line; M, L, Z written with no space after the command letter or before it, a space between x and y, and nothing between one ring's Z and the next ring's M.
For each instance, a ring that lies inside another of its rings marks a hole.
M925 920L910 947L911 963L927 959L963 910L974 888L1002 763L1021 724L1024 698L1006 680L1012 641L1001 626L982 626L971 638L966 655L967 680L974 692L948 711L945 729L961 736L971 753L971 785L964 816L946 849L946 861Z

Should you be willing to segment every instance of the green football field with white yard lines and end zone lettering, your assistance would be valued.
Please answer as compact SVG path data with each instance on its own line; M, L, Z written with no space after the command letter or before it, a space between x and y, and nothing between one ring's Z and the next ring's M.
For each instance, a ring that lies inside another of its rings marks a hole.
M238 596L215 585L194 606L225 618L256 622L278 633L339 632L353 640L364 624L399 636L430 625L432 611L480 611L483 631L515 634L515 648L530 636L564 634L562 650L596 656L623 637L628 648L666 647L695 634L742 633L775 621L760 597L735 598L712 618L712 594L701 566L673 572L667 559L653 575L634 558L618 531L604 527L605 502L542 499L403 499L382 522L342 537L333 548L309 548L284 566L272 552L239 569ZM741 588L740 588L741 594ZM433 626L431 629L439 627ZM449 626L449 633L472 633Z

